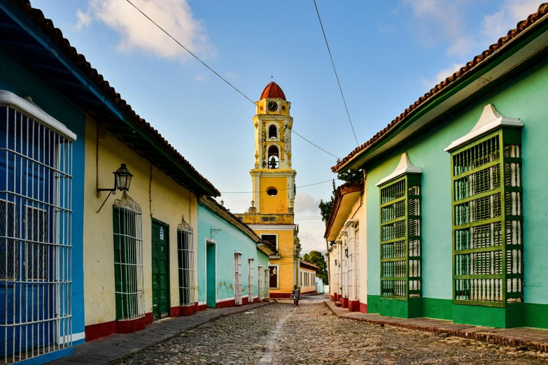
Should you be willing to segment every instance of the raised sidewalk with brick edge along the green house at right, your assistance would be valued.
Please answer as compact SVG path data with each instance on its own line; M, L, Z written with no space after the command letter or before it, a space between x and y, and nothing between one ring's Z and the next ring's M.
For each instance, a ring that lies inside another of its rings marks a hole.
M448 334L476 341L496 343L497 345L518 348L518 350L535 350L548 352L548 330L517 327L500 329L493 327L471 326L470 324L455 324L448 320L433 320L429 318L396 318L377 314L349 312L347 308L336 307L332 301L324 302L337 317L348 320L358 320L371 324L386 324L388 326L416 329L435 334Z

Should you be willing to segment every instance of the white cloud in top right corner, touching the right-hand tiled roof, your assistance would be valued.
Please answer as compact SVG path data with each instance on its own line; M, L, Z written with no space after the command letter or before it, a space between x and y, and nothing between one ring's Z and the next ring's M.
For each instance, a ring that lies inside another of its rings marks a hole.
M510 29L516 27L517 22L536 13L539 5L539 0L503 1L496 13L486 15L482 21L482 34L487 43L495 43L498 38L505 36Z

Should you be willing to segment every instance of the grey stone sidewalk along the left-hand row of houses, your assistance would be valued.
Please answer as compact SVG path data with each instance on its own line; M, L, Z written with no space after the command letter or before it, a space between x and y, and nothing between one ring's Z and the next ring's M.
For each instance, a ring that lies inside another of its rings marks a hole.
M168 317L148 324L132 334L113 334L74 348L74 355L48 362L50 365L108 364L153 343L167 340L185 329L204 324L225 315L253 310L269 303L255 303L240 307L207 309L188 317Z

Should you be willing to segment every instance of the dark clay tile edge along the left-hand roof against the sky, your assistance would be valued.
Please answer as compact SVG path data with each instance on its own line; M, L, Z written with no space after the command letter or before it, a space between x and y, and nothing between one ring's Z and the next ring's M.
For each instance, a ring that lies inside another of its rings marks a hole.
M104 92L106 95L108 95L114 103L122 110L122 112L126 115L126 117L134 122L137 126L141 127L143 131L148 134L148 136L153 139L153 141L157 142L164 148L165 151L171 155L171 157L174 157L176 161L180 162L185 169L188 169L192 175L195 176L198 180L202 180L204 185L208 186L211 191L213 191L215 194L220 196L220 192L216 187L213 186L207 180L202 176L191 164L188 162L183 155L181 155L175 148L171 146L171 144L164 138L162 135L153 127L150 126L150 123L146 122L143 118L139 117L138 114L134 112L132 109L132 106L129 105L124 99L121 98L120 94L118 94L114 87L111 87L111 85L108 83L107 80L104 80L103 76L97 71L97 69L94 69L90 62L87 62L85 60L85 56L78 53L76 48L72 47L69 40L63 37L63 33L61 29L55 28L53 25L53 21L51 19L46 18L43 15L42 10L38 8L32 8L31 3L29 0L11 0L12 3L15 4L22 12L29 17L29 19L32 20L39 28L41 28L45 34L50 36L52 41L54 41L59 48L64 52L64 55L66 57L69 57L76 66L82 71L85 76L90 78L92 82L99 87L99 89Z

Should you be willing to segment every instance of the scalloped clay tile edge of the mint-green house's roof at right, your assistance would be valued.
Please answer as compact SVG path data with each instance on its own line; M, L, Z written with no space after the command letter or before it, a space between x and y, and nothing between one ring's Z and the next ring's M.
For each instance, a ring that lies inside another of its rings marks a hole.
M489 46L487 50L484 50L480 55L477 55L474 57L471 61L467 62L465 66L461 67L458 71L454 72L453 75L447 77L445 80L442 80L439 84L435 85L432 89L430 89L429 92L421 96L417 101L412 103L409 108L405 109L403 113L398 115L392 122L388 123L388 125L379 131L377 134L372 136L369 141L363 143L362 145L359 145L356 147L352 152L349 153L348 156L344 157L341 161L337 162L335 166L332 166L331 171L336 172L338 171L342 166L344 166L347 162L349 162L352 157L358 155L359 152L362 152L363 150L366 150L371 145L373 145L376 141L379 140L384 134L386 134L388 131L393 129L394 127L398 126L403 120L406 120L407 116L411 114L416 108L419 108L419 106L426 103L426 101L429 101L434 96L436 96L439 92L441 92L445 87L448 85L451 85L451 83L456 82L456 80L461 79L466 73L468 73L471 69L475 68L479 63L483 62L484 59L488 58L490 55L493 55L494 52L497 50L500 50L500 48L503 48L505 44L512 41L513 38L516 38L519 34L523 33L531 27L532 24L540 20L542 17L545 17L545 15L548 14L548 3L542 3L538 7L538 11L536 13L533 13L527 17L526 20L521 20L517 23L517 27L515 29L510 29L508 31L506 36L500 37L498 39L497 43L493 43Z

